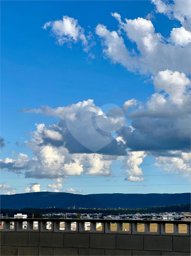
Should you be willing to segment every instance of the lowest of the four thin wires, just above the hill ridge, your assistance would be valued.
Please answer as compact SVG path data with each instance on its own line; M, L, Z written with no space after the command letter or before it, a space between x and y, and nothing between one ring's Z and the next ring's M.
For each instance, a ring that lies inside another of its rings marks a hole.
M38 184L39 185L39 184ZM191 186L191 184L144 184L144 185L89 185L89 186L63 186L65 188L71 188L71 187L75 187L75 188L81 188L81 187L131 187L131 186ZM15 188L26 188L26 186L16 186ZM47 186L40 186L40 188L47 188ZM52 186L52 188L49 188L48 189L56 189L56 188L59 188L58 186Z

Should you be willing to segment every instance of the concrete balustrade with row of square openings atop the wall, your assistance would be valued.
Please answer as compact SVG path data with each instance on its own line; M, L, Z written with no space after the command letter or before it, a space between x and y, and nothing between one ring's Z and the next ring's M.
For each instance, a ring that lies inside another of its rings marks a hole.
M1 219L1 232L106 233L190 236L190 221Z

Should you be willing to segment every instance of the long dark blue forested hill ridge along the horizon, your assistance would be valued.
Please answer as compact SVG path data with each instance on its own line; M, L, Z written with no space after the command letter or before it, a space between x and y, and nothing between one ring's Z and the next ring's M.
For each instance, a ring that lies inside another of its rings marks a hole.
M0 207L22 208L147 208L191 203L191 193L181 194L90 194L79 195L65 192L33 192L1 195Z

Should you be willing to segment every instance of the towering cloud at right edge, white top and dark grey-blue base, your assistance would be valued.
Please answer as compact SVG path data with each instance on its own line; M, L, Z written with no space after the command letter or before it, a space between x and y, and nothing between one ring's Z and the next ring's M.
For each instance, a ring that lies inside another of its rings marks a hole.
M191 142L191 81L185 74L160 71L145 107L129 114L132 127L117 133L131 150L189 150Z

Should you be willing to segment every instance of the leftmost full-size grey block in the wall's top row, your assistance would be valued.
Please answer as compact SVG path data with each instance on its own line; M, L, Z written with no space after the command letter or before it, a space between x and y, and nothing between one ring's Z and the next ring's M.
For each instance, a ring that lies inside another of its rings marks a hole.
M27 246L28 245L28 233L6 232L5 233L5 245Z

